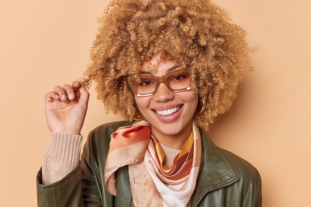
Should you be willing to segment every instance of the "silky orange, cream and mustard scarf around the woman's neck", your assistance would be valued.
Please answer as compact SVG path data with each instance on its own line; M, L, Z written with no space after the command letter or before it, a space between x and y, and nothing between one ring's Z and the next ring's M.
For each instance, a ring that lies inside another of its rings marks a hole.
M114 172L129 165L135 207L187 207L195 189L201 156L201 136L194 123L171 168L163 165L164 153L148 122L120 127L111 135L104 170L106 190L116 195Z

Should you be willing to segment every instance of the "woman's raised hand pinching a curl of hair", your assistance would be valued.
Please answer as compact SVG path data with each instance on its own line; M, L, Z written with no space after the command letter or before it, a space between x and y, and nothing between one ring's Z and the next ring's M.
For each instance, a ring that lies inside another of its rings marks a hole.
M51 132L79 135L89 94L79 83L56 86L45 95L45 114Z

